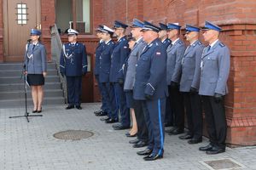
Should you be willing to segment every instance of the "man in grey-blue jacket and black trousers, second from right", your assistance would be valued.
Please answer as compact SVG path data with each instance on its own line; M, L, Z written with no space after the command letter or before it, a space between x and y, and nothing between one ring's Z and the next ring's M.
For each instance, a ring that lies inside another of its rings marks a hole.
M185 31L189 46L182 59L179 91L183 94L189 132L180 136L179 139L190 139L189 144L197 144L202 141L201 98L198 90L201 77L201 54L205 47L198 40L200 28L187 24Z

